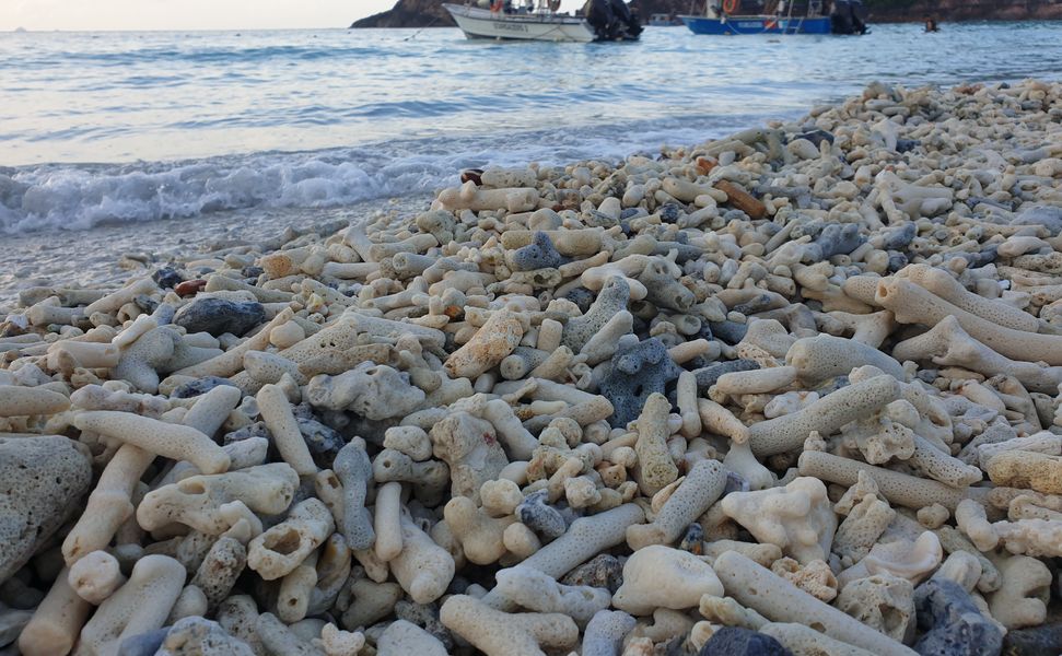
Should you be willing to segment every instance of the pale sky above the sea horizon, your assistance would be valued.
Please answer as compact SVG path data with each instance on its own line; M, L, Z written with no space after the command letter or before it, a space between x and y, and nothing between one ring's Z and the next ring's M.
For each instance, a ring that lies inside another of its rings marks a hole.
M0 0L0 31L346 27L396 0ZM460 0L458 0L460 1ZM564 0L570 11L581 0Z

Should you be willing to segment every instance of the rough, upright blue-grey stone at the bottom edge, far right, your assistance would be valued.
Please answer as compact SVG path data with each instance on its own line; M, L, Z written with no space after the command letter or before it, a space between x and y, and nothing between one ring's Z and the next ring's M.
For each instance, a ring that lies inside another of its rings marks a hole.
M919 629L914 651L922 656L997 656L1003 633L978 611L962 586L931 578L914 589Z

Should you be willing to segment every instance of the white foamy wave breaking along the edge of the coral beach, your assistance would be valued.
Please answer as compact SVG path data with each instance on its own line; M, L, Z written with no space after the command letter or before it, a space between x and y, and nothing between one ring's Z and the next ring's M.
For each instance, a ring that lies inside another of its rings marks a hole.
M247 209L339 208L427 194L454 184L462 168L621 160L656 153L665 143L699 143L746 125L713 121L711 130L681 124L602 126L577 134L523 132L186 162L0 168L0 232L82 231Z

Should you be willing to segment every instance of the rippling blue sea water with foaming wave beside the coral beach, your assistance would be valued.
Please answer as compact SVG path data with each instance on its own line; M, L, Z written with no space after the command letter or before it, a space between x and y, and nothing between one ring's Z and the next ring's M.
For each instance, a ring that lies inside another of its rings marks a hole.
M863 37L470 42L457 30L0 34L0 232L423 194L462 167L619 159L872 80L1062 77L1062 24ZM176 227L176 225L175 225Z

